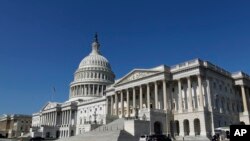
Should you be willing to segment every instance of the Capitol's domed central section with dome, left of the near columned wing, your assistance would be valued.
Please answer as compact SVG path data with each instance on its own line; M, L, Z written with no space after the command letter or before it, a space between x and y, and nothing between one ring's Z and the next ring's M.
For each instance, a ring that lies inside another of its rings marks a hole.
M83 58L70 83L69 100L48 102L33 114L32 136L65 138L88 132L106 124L105 90L115 75L108 60L101 55L95 35L92 51Z

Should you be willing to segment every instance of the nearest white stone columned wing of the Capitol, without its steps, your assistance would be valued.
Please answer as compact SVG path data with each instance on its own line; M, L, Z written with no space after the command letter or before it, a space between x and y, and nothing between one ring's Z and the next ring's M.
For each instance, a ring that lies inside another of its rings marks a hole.
M108 114L135 118L137 109L139 119L151 122L151 133L211 137L216 127L249 124L249 83L243 72L200 59L135 69L106 90Z

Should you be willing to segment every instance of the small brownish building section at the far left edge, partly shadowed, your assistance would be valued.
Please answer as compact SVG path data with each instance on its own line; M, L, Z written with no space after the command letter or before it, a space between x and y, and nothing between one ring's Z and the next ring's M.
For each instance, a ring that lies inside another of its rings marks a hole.
M6 138L17 138L29 133L31 122L30 115L3 115L0 117L0 134Z

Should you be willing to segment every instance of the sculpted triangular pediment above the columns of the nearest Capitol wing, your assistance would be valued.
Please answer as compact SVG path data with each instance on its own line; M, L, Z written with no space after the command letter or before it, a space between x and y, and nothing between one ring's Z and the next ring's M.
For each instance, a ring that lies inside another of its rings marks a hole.
M160 71L155 71L155 70L135 69L135 70L132 70L131 72L129 72L124 77L122 77L120 80L118 80L115 85L127 83L130 81L134 81L134 80L138 80L138 79L142 79L142 78L146 78L146 77L149 77L151 75L157 74L159 72Z

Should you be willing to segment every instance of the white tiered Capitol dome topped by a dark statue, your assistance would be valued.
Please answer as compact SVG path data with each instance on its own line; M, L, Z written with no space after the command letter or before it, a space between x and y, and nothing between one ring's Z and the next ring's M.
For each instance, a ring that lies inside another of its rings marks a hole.
M74 80L70 83L70 100L89 100L105 96L106 86L114 83L115 74L99 48L96 34L92 51L82 59L74 73Z

